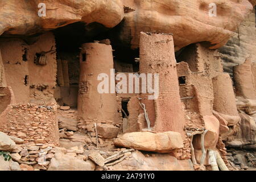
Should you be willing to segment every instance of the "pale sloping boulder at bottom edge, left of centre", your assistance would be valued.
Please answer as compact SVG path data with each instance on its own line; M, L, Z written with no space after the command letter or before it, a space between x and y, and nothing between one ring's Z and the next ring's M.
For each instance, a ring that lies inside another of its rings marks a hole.
M95 168L96 165L90 160L84 161L57 150L49 163L48 171L94 171Z

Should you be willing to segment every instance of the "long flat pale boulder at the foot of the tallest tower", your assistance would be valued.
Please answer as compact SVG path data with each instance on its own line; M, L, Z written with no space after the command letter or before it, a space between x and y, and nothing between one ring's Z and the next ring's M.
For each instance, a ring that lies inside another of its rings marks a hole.
M180 133L172 131L164 133L134 132L123 134L115 139L114 144L137 150L168 153L177 148L183 148L183 139Z

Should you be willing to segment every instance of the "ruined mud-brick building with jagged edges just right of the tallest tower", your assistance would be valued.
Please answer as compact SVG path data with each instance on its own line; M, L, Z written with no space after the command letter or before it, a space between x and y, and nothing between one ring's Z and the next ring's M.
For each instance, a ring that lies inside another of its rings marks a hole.
M186 81L184 85L180 85L183 97L193 97L183 102L190 111L196 111L197 108L191 105L197 104L201 115L212 115L212 78L223 72L220 53L218 50L208 49L204 43L197 43L185 47L177 60L181 61L177 64L177 75L185 77Z

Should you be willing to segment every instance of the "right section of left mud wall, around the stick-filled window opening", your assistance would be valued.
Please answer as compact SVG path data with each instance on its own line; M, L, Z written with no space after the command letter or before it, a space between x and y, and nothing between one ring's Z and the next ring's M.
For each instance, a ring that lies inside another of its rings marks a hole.
M36 65L34 56L42 51L47 52L47 64ZM28 80L30 85L30 101L35 104L55 103L53 93L56 85L57 62L55 52L55 37L51 32L39 36L37 42L30 45L27 50Z

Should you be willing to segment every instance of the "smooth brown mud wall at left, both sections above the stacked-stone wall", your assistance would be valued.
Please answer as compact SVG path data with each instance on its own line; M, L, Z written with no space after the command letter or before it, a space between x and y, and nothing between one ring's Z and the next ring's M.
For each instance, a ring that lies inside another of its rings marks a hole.
M27 45L21 39L0 39L7 86L11 86L17 103L34 102L39 105L54 103L56 84L56 53L47 53L47 64L34 63L36 53L55 50L51 32L40 35Z

